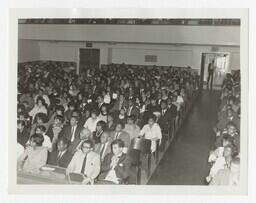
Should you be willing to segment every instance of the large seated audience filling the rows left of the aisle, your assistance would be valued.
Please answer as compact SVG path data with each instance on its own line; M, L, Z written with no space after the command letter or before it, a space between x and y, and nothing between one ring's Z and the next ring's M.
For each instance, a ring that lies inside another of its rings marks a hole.
M49 164L83 184L127 183L132 140L150 140L154 153L198 85L189 67L109 64L77 75L54 63L23 64L17 170L38 173Z

